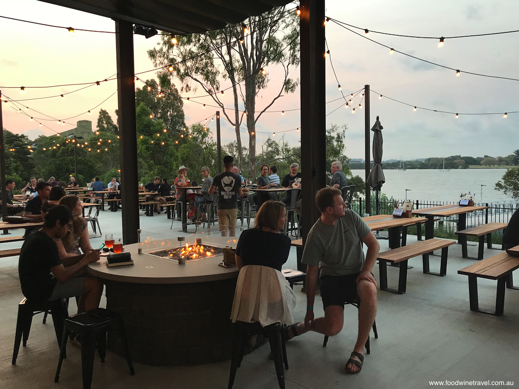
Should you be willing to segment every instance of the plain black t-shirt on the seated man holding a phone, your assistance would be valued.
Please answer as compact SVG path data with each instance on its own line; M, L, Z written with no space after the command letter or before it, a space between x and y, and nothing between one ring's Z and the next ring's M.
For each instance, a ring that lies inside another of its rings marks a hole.
M18 273L23 295L30 302L49 299L56 286L56 277L50 269L61 265L58 246L42 231L30 234L20 251Z

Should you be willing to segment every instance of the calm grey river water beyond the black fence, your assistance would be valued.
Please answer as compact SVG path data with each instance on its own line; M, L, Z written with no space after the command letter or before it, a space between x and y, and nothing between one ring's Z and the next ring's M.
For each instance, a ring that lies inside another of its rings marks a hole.
M406 171L384 170L386 183L380 190L388 198L450 201L459 200L461 193L475 194L475 202L501 202L511 200L503 192L495 190L496 183L506 173L506 169L452 169L442 172L436 169L409 169ZM365 178L364 170L352 170L353 175ZM486 186L481 186L486 185ZM482 195L483 189L483 196Z

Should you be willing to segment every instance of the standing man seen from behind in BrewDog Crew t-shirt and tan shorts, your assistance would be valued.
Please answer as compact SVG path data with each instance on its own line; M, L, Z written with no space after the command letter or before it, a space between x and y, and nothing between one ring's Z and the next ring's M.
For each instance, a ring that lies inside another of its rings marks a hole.
M224 157L224 172L216 174L213 184L209 188L209 194L214 195L218 189L218 204L216 214L218 215L218 229L222 237L235 237L236 218L238 217L238 196L243 197L241 189L241 177L233 173L234 158L230 155Z

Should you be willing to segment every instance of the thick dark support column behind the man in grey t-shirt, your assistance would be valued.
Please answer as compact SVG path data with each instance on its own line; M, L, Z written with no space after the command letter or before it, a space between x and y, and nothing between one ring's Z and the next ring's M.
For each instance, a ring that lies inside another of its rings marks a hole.
M325 186L326 113L324 0L301 1L302 235L321 216L315 197Z

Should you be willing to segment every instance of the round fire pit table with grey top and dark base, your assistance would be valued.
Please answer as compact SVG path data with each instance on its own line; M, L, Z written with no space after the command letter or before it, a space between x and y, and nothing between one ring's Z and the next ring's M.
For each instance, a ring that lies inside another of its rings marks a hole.
M186 238L182 243L194 241ZM202 244L236 247L237 241L211 236ZM239 270L218 266L222 255L178 265L138 254L138 248L145 253L178 245L176 239L125 245L134 265L108 268L101 257L88 270L104 279L106 308L122 314L133 360L182 366L230 359L230 313ZM108 348L125 355L118 334L110 333Z

